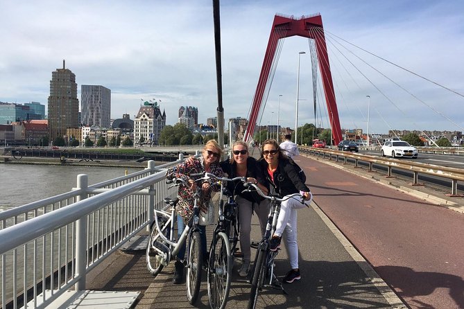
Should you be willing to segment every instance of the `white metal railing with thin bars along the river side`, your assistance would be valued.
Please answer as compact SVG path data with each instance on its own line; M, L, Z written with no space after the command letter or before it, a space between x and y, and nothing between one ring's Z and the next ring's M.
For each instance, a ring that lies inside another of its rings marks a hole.
M1 308L46 308L73 288L85 290L85 276L153 221L175 188L165 169L183 160L77 188L0 212Z

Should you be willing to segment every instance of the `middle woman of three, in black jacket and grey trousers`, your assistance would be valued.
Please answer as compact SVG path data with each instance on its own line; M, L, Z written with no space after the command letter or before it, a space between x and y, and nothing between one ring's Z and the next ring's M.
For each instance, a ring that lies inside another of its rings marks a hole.
M247 177L247 182L258 184L264 192L268 192L266 178L261 172L257 160L249 157L248 144L244 141L236 141L232 145L232 157L226 161L222 161L221 168L229 178ZM257 193L242 193L246 189L243 186L243 182L228 183L227 188L236 195L235 201L239 206L240 247L243 253L243 263L239 270L239 275L244 277L248 275L248 270L250 269L251 216L253 211L257 214L259 225L261 226L261 234L264 234L269 212L269 202L257 195Z

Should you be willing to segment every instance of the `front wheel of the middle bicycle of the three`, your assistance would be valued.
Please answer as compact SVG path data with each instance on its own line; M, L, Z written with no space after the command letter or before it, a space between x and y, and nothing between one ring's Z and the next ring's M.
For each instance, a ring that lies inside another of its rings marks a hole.
M217 233L209 251L208 297L212 309L223 309L232 281L232 252L225 233Z

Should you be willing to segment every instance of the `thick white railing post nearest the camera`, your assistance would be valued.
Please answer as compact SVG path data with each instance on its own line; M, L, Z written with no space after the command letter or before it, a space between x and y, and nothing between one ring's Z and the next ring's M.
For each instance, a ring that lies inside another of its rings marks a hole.
M82 190L78 195L77 202L87 198L87 187L89 186L89 178L86 174L79 174L77 177L77 188ZM85 290L85 265L87 264L87 215L76 221L76 276L80 276L78 282L74 285L74 290Z

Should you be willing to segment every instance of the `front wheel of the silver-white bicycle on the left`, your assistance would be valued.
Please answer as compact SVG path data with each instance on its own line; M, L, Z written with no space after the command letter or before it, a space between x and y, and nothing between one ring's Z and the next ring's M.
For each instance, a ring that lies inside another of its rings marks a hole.
M187 257L187 299L191 305L196 302L200 293L202 263L200 232L195 231L190 237L189 256Z

